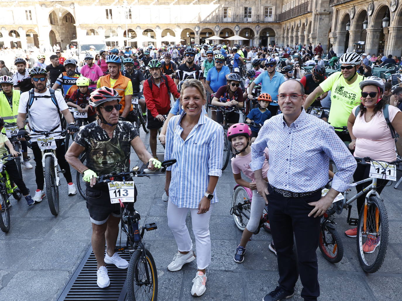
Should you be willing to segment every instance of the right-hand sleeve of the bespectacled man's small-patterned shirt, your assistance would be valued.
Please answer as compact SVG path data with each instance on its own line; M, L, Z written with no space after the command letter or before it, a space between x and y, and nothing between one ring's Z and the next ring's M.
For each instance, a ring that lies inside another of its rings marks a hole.
M324 152L334 161L338 169L332 180L332 188L339 192L344 192L352 187L349 182L356 170L356 160L332 127L329 127L327 131L323 131L322 143Z

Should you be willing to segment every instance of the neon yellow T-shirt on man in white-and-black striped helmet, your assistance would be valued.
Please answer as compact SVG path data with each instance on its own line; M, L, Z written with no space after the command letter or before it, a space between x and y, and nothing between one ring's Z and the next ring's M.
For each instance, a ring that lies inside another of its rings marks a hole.
M328 123L333 127L347 126L352 109L361 102L359 83L362 80L363 76L358 74L355 82L349 85L341 72L335 72L320 84L324 92L331 90L331 109Z

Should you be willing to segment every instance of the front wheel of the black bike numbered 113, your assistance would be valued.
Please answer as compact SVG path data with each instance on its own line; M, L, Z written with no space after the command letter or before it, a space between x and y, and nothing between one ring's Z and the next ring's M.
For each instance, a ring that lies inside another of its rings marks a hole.
M127 270L127 300L156 301L158 299L158 274L154 258L145 249L136 250L131 256Z

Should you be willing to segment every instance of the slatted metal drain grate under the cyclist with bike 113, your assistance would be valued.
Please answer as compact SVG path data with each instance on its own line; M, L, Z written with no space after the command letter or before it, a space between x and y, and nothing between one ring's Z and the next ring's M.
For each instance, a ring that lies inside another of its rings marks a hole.
M130 260L128 252L119 253L119 256L127 261ZM108 264L107 271L110 286L100 289L96 284L96 259L92 252L92 246L90 246L57 301L124 301L127 269L116 268L116 266Z

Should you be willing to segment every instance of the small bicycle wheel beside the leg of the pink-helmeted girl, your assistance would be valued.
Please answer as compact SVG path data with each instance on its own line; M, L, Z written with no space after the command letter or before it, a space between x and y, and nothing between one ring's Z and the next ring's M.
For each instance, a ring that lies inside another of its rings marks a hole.
M232 197L233 219L240 231L246 228L250 219L251 200L243 186L237 186Z

